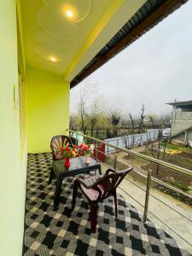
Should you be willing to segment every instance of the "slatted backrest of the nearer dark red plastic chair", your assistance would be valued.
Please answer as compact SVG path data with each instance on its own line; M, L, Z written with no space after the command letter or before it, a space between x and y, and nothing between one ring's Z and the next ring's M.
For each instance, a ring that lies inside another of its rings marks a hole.
M129 167L123 171L113 171L110 174L105 174L97 183L97 188L99 188L99 185L102 185L104 189L104 193L100 194L100 200L107 198L108 195L112 195L119 186L119 183L122 182L126 174L131 172L132 169L133 167ZM108 172L110 172L110 169L106 173Z

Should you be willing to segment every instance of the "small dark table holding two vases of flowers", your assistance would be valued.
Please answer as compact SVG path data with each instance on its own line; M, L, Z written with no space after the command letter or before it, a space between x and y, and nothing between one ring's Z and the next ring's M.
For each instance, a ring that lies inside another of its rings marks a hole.
M90 157L90 163L84 164L84 156L75 157L70 159L71 166L69 168L64 166L64 160L53 161L49 183L53 177L56 177L55 196L54 196L54 209L58 207L61 197L61 185L63 177L70 177L81 173L88 173L90 171L98 170L102 174L100 162Z

